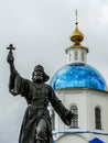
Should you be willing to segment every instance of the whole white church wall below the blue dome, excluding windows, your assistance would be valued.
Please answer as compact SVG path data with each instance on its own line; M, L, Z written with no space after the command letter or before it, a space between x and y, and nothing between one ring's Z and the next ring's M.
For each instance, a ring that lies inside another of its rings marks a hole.
M108 142L108 94L97 90L57 90L56 95L65 107L74 103L78 108L78 128L73 129L63 123L56 114L56 139L65 133L80 134L88 141L98 138ZM101 107L101 130L95 129L95 108ZM80 141L82 142L82 141ZM56 142L57 143L57 142ZM58 140L58 143L60 140ZM68 142L69 143L69 142ZM85 143L85 142L83 142Z

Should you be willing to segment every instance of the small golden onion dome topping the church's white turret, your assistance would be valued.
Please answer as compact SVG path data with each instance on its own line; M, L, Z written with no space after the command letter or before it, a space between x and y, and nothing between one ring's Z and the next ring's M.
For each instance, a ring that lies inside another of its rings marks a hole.
M80 45L80 42L84 40L84 34L78 30L78 23L75 23L76 28L71 34L71 41L74 42L74 45Z

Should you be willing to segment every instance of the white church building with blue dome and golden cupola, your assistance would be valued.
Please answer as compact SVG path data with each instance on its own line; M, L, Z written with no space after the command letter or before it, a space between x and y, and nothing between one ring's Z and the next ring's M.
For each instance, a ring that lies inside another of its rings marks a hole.
M54 143L108 143L107 85L101 74L87 64L89 50L80 44L83 40L76 19L71 34L74 44L66 50L68 64L54 74L51 86L78 118L67 127L52 109Z

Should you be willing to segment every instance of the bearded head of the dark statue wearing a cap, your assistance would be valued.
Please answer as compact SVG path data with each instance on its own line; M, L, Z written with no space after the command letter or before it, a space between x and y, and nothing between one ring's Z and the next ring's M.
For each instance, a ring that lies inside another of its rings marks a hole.
M42 81L47 81L48 76L44 73L44 67L41 65L37 65L34 67L34 72L32 74L32 79L35 82L42 82Z

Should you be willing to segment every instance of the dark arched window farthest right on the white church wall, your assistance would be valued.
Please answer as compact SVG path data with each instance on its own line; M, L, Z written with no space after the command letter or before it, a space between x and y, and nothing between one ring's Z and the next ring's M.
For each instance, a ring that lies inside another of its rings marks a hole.
M101 129L101 110L99 107L95 108L95 128Z

